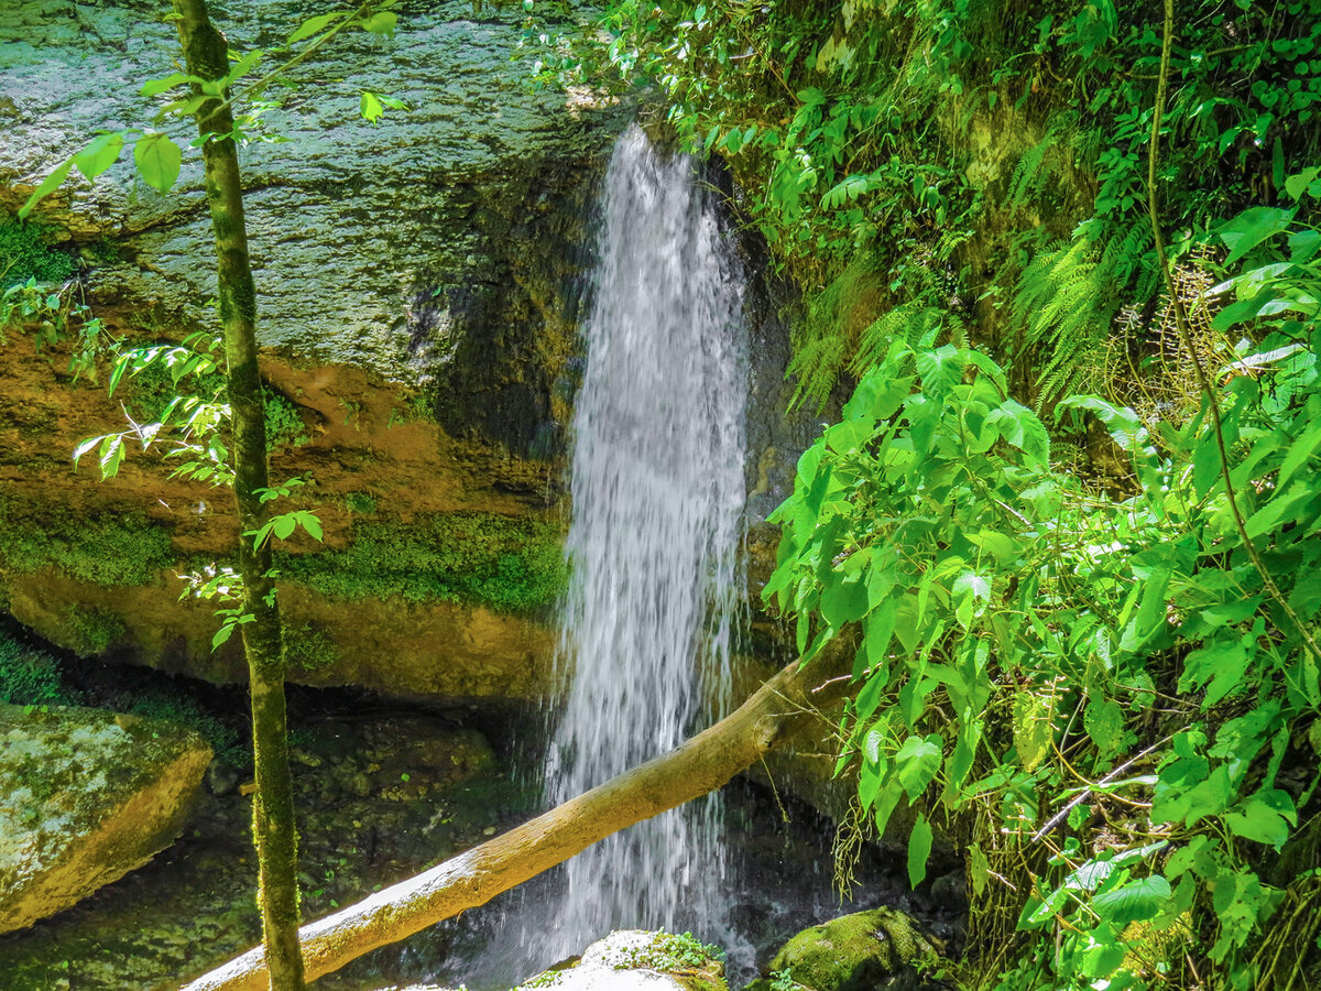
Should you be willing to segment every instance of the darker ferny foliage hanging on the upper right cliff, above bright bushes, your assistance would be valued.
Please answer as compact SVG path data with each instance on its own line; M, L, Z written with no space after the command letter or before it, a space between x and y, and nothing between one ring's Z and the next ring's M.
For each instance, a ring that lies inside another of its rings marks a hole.
M650 79L676 136L728 161L740 207L804 287L799 400L819 406L871 361L868 321L838 307L859 259L889 292L872 318L914 307L948 322L983 301L979 341L1038 407L1092 387L1122 307L1157 305L1145 164L1160 4L617 0L576 36L542 25L543 5L528 5L524 45L540 82ZM1177 4L1157 182L1180 239L1273 203L1321 153L1308 12ZM1143 318L1129 336L1141 357L1160 332Z

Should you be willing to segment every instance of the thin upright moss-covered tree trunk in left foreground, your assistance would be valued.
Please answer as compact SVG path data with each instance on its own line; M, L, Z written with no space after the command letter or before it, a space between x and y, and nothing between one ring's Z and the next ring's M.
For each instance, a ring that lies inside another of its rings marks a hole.
M189 74L219 79L229 71L229 45L214 28L206 0L173 0L178 36ZM194 94L202 90L194 85ZM230 406L234 414L234 494L240 531L252 534L267 519L260 492L267 488L266 414L258 371L256 300L248 263L247 226L238 149L230 135L234 116L219 99L197 111L198 132L218 135L202 145L206 201L215 231L219 262L218 299L229 363ZM293 782L289 776L284 707L284 642L275 583L269 577L271 550L239 538L243 608L254 618L240 626L252 696L252 756L256 793L252 834L260 877L259 901L266 966L272 991L303 991L299 949L297 832L293 822Z

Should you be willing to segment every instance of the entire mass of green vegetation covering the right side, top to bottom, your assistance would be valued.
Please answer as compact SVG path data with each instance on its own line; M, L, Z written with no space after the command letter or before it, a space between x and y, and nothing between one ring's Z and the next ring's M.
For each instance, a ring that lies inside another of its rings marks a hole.
M834 425L765 596L857 638L852 828L964 854L959 984L1314 980L1314 5L530 8L543 82L653 82L803 287Z

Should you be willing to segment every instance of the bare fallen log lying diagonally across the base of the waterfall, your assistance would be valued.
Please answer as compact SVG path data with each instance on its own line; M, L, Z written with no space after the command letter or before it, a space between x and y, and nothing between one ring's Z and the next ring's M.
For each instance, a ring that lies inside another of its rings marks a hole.
M849 686L844 650L783 669L733 715L667 754L556 806L424 873L303 928L309 979L435 922L485 905L600 839L699 798L820 717ZM815 686L815 687L814 687ZM250 950L184 991L262 991L262 951Z

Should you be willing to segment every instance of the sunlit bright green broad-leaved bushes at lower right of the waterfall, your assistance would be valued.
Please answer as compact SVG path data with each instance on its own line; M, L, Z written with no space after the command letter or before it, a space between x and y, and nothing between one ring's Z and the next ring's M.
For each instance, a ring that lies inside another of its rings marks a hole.
M1276 914L1310 881L1272 867L1317 811L1321 231L1300 217L1318 174L1288 180L1296 209L1217 231L1242 271L1214 326L1243 336L1209 370L1219 420L1058 403L1123 449L1127 495L1055 470L984 355L897 341L774 517L765 595L797 616L799 650L857 630L840 768L856 762L880 830L922 810L914 883L927 819L976 839L972 889L1029 941L1000 987L1140 987L1185 957L1189 980L1283 987L1305 965L1255 951L1301 950L1314 921Z

